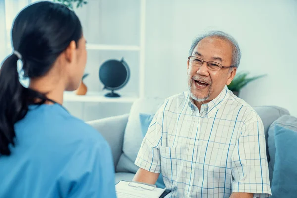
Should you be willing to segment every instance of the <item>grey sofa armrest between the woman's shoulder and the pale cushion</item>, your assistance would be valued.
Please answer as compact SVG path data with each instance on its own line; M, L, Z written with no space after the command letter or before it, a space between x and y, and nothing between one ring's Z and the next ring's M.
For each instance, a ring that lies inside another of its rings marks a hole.
M88 121L109 143L114 167L117 166L120 155L122 154L124 131L128 122L128 114Z

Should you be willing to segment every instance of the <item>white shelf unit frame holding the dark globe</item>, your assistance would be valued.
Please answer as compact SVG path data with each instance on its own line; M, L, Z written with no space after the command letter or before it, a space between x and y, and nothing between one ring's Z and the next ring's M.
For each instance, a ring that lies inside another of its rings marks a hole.
M65 92L64 101L66 102L117 102L133 103L136 99L144 96L144 64L145 64L145 16L146 0L140 0L140 45L105 45L105 44L87 44L89 50L111 50L111 51L137 51L139 52L139 94L121 94L119 98L105 97L105 92L88 91L85 96L78 96L74 92Z

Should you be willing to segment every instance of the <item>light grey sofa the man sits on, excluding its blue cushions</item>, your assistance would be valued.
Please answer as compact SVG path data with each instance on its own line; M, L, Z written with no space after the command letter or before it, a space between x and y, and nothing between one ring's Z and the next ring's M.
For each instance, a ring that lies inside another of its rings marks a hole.
M163 101L163 99L159 98L138 99L133 103L129 114L88 122L104 136L111 147L116 172L115 183L120 180L131 181L134 177L134 174L138 170L134 161L144 137L144 134L141 132L142 124L140 115L153 115ZM282 116L289 115L289 111L277 106L257 106L254 109L261 117L265 128L266 150L271 181L273 177L273 163L275 161L271 157L275 157L275 153L269 153L271 149L268 148L268 131L272 123L276 122ZM270 163L271 161L273 163Z

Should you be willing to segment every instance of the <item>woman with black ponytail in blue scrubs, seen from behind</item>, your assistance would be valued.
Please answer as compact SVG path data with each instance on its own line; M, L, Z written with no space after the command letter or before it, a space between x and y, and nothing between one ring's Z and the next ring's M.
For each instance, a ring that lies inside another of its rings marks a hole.
M42 1L18 14L11 33L14 51L0 69L0 198L115 198L107 142L62 106L86 66L78 17Z

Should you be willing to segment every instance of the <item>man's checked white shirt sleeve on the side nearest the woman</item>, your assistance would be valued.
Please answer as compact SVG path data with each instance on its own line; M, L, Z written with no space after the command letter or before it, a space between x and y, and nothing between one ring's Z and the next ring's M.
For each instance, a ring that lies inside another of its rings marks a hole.
M135 165L154 173L161 173L159 148L162 145L163 133L167 131L164 116L167 103L168 101L158 109L152 119L135 160Z

